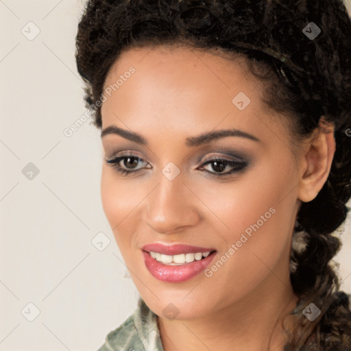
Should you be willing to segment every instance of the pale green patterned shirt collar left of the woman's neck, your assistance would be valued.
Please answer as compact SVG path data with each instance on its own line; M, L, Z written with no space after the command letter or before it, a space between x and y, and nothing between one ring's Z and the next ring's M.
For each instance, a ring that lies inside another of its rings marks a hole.
M97 351L164 351L157 316L140 298L138 307L117 329L108 333Z

